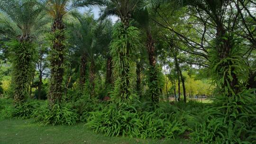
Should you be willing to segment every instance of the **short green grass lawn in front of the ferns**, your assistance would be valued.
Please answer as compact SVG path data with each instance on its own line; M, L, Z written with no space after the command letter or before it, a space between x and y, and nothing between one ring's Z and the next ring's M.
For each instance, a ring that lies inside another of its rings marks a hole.
M189 144L185 140L151 140L107 137L95 134L84 124L44 126L32 120L0 120L0 144Z

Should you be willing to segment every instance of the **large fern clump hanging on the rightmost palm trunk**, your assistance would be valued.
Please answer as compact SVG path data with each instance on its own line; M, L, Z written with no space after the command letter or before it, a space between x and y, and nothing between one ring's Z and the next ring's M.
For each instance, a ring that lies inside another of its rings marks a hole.
M219 53L217 48L210 51L209 70L211 79L213 83L217 84L219 94L224 93L226 96L234 96L243 90L243 83L247 81L248 77L248 67L246 59L243 58L241 39L234 38L233 34L226 33L221 40L229 40L231 49L224 58L221 58L222 53ZM218 45L216 47L219 47Z

